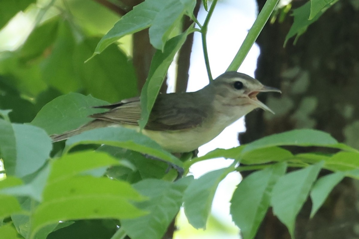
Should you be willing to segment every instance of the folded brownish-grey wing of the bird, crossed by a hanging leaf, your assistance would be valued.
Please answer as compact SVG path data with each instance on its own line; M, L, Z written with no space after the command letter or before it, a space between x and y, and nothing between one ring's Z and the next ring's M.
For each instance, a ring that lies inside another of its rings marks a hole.
M164 94L157 97L145 129L181 130L194 128L202 123L206 115L201 107L196 107L196 102L191 99L192 95L184 93L187 95L181 99L178 93L176 94ZM181 100L178 101L178 99ZM141 105L138 97L99 107L111 110L90 117L129 125L138 125L138 120L141 118Z

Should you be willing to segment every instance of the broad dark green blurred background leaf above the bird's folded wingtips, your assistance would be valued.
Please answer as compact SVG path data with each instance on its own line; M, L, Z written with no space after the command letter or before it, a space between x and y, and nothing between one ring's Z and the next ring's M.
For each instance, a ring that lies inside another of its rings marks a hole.
M138 96L134 66L117 46L110 46L99 56L84 63L98 40L84 39L74 51L76 73L87 94L108 102Z

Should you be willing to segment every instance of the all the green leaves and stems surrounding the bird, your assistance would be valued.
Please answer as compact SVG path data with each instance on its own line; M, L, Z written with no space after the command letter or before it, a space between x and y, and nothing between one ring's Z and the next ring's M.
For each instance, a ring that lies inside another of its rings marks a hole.
M143 127L169 64L188 34L198 31L205 39L216 5L213 1L202 26L192 14L194 0L146 0L121 19L94 2L81 3L1 2L1 9L9 11L0 14L0 24L26 7L22 14L33 23L16 49L0 52L0 158L6 173L0 181L1 238L64 238L75 226L89 230L88 225L102 228L97 238L162 238L182 204L188 221L205 228L219 182L230 172L250 170L255 172L239 183L230 206L243 238L256 235L269 207L294 237L295 218L308 195L313 216L342 178L359 179L359 151L311 129L270 135L192 159L177 158L153 140L123 128L94 129L52 145L48 135L75 129L102 110L91 106L137 95L134 67L124 53L127 43L118 40L149 28L157 52L141 92ZM277 1L267 3L230 69L238 69ZM295 10L287 38L302 34L333 3L313 0L310 8L307 3ZM207 9L206 0L203 4ZM13 20L19 20L18 15ZM198 28L191 25L173 36L183 15ZM104 29L109 31L98 38ZM209 67L208 75L211 78ZM292 146L312 151L295 154ZM234 161L198 179L185 175L175 180L177 171L168 168L170 164L188 172L194 163L216 157ZM322 168L331 173L317 179ZM90 238L83 232L76 235Z

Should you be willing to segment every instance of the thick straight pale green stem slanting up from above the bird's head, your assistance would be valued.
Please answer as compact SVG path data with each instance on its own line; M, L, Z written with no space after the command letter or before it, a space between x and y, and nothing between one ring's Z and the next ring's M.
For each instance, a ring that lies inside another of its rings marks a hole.
M249 50L255 43L259 33L262 31L277 3L278 0L266 1L261 12L258 14L257 19L253 23L253 26L249 30L246 39L244 39L242 46L239 48L236 56L227 68L227 71L237 71L239 66L241 66L244 58L246 58Z

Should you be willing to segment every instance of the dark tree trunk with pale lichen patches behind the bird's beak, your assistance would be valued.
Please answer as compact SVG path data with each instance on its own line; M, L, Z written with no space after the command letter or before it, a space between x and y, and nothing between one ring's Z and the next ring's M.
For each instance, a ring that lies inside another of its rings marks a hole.
M261 9L265 0L257 2ZM293 5L304 3L296 1ZM261 55L256 77L266 85L280 87L283 94L262 98L276 114L261 110L249 114L247 131L239 136L241 143L286 130L314 128L359 148L359 12L356 9L354 1L339 1L309 26L295 46L290 40L285 48L284 38L292 17L265 26L257 41ZM358 182L345 178L311 220L311 202L306 202L297 217L296 238L359 238L357 205ZM269 210L256 238L290 236Z

